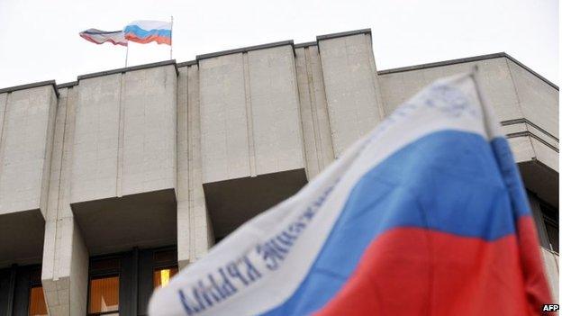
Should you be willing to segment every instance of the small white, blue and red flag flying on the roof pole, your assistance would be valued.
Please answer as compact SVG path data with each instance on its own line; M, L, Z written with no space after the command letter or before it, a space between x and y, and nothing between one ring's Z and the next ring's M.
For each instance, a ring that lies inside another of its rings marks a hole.
M156 41L172 45L172 23L165 21L133 21L123 29L125 38L138 43Z

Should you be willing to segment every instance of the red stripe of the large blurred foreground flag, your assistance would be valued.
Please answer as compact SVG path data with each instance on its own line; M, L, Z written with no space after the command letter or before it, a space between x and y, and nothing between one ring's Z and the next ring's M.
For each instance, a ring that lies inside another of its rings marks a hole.
M316 315L539 315L551 301L532 225L530 216L520 219L520 245L514 235L488 242L386 231Z

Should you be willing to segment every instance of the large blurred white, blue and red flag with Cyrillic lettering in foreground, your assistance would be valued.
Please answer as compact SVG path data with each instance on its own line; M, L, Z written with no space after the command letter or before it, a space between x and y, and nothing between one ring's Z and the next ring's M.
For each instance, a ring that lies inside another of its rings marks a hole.
M474 76L399 106L157 290L150 315L539 315L530 207Z

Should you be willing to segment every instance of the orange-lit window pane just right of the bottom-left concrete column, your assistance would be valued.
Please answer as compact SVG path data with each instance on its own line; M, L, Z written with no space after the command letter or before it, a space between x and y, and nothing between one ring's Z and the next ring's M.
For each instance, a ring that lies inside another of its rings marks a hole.
M119 275L90 280L88 313L104 311L119 311Z

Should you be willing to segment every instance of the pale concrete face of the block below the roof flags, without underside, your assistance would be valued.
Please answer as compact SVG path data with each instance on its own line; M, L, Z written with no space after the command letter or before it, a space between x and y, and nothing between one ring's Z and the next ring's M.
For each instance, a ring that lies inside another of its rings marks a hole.
M71 203L176 187L173 66L78 85Z

